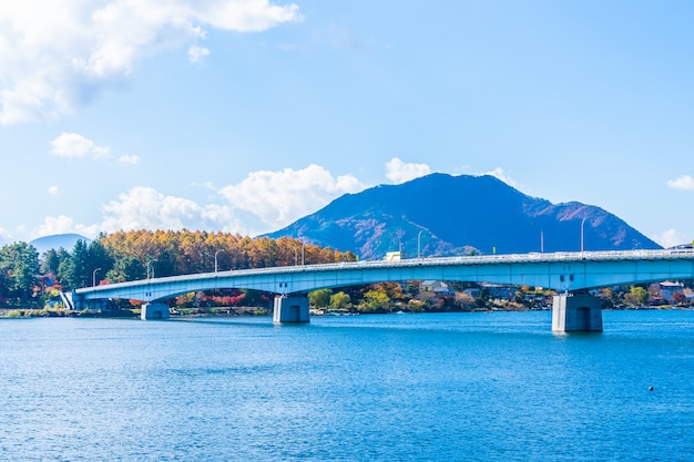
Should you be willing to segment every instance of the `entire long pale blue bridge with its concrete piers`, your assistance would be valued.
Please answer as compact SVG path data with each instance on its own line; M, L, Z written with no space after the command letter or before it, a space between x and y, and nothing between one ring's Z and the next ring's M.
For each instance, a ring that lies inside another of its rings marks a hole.
M552 329L602 330L600 300L588 289L694 278L694 249L531 253L491 256L345 261L150 278L76 289L65 301L80 309L94 300L144 302L143 319L169 317L165 300L223 288L275 294L275 322L308 322L312 290L384 281L448 280L554 289Z

